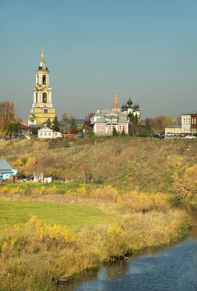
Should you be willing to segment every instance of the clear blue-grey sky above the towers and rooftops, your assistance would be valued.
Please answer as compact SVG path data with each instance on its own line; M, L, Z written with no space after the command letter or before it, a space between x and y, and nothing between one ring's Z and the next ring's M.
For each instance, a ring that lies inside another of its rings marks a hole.
M111 108L115 86L142 118L197 110L196 0L0 0L0 101L24 122L42 42L59 119Z

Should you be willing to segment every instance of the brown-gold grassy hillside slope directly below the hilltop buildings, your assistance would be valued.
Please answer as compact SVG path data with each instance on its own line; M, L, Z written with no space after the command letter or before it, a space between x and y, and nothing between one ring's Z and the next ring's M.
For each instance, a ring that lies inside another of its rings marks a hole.
M77 147L65 149L68 143ZM62 176L73 183L108 182L124 190L169 192L174 171L197 163L196 140L22 140L0 146L1 155L16 155L7 160L27 175Z

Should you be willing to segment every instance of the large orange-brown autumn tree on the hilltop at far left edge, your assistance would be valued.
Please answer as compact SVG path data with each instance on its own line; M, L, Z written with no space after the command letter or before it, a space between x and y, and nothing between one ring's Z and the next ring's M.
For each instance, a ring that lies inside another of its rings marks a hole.
M0 132L3 137L10 133L10 125L15 122L16 109L13 102L0 102Z

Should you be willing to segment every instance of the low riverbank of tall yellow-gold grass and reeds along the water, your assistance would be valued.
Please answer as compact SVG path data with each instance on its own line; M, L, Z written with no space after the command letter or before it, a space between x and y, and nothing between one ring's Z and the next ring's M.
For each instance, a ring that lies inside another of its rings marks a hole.
M85 269L133 250L181 240L191 226L191 219L184 211L168 207L143 214L141 211L122 212L117 203L104 203L96 198L93 201L89 197L65 195L59 196L59 203L53 203L49 201L57 201L55 195L24 197L16 194L15 201L10 201L12 195L1 194L2 213L6 215L6 207L9 208L7 214L10 218L10 213L13 213L13 224L15 218L19 218L17 213L23 215L20 226L9 227L1 233L0 290L55 290L59 277L69 280ZM34 208L30 205L32 202ZM100 217L96 224L93 223L94 215L91 212L93 204L96 206L93 212L99 213ZM77 227L77 221L84 216L80 205L86 213L86 223ZM69 227L65 227L66 218L61 223L58 211L69 215L68 206L77 209L76 212L72 211L76 213L76 219L71 219ZM44 208L48 212L48 224L42 222L40 217L35 217ZM28 222L27 217L30 218ZM56 225L52 226L54 219Z

